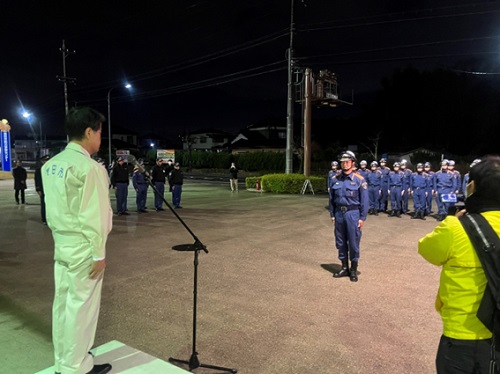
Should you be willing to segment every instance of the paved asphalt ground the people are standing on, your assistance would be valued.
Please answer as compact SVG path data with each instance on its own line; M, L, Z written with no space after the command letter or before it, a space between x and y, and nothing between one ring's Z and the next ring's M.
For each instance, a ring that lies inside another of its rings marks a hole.
M28 205L15 204L12 186L0 180L0 373L23 374L53 364L53 242L33 179ZM352 283L332 277L339 262L325 194L231 193L228 183L188 180L182 205L209 251L198 265L202 364L243 374L435 372L439 268L417 254L435 220L370 216ZM187 360L194 252L173 247L194 240L169 210L135 213L132 189L128 206L108 240L96 345L118 340Z

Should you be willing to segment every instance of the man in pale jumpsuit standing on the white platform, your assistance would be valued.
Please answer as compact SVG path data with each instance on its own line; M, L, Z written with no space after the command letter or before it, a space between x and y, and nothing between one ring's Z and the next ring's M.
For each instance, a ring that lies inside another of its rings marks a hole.
M47 223L55 246L52 339L56 373L111 370L109 364L94 365L89 353L113 216L108 173L90 157L99 150L104 120L91 108L72 108L64 123L70 142L42 167Z

